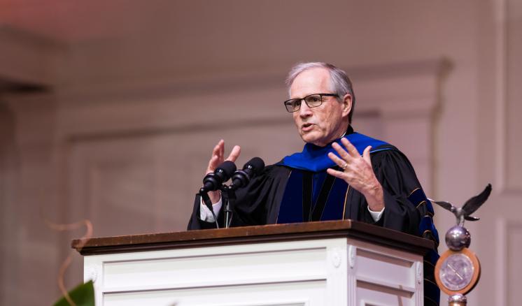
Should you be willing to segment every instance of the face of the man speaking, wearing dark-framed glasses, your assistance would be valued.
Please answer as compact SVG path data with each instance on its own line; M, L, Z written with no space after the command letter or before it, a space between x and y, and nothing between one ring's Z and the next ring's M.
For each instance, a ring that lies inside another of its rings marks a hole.
M330 86L330 73L324 68L303 71L290 86L290 98L304 98L309 94L334 94ZM323 103L309 108L301 101L301 108L292 112L295 126L305 143L323 147L339 138L348 127L348 113L351 110L351 96L323 96Z

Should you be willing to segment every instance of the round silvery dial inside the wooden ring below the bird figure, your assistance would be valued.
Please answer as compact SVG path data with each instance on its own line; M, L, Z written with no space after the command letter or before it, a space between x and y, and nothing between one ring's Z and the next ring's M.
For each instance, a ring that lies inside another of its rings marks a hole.
M474 267L471 259L465 254L448 256L439 270L442 284L451 291L464 289L472 281Z

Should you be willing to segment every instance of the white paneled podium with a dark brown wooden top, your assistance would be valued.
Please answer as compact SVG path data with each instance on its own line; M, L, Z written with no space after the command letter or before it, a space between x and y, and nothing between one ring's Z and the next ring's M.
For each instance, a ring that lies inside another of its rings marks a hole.
M423 255L434 247L351 220L71 245L85 256L97 306L423 305Z

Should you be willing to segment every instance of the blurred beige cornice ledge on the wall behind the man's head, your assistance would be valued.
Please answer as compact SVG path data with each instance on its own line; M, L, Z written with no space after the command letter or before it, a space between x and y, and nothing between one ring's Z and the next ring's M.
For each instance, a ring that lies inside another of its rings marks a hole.
M367 66L341 67L353 80L355 95L367 92L372 99L381 100L379 91L369 89L368 85L383 85L387 80L418 82L418 80L437 80L449 66L444 59L420 59L416 61L372 64ZM205 75L176 76L141 75L141 78L115 78L104 82L82 82L77 85L57 86L55 92L60 103L84 104L106 103L107 101L140 101L160 99L167 96L193 96L194 94L213 94L229 91L248 91L253 89L282 89L286 92L284 80L287 71L248 71L227 73L208 73ZM368 88L368 89L367 89ZM404 88L404 87L397 87ZM435 88L435 87L434 87ZM411 93L416 92L414 86ZM389 94L389 91L386 91ZM422 96L425 95L423 91ZM431 95L430 95L431 96ZM377 99L378 98L378 99Z

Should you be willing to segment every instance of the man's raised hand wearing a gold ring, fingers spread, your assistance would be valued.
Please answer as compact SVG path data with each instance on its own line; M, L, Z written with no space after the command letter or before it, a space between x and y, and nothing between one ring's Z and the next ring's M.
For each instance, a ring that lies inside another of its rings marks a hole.
M329 175L337 177L347 182L355 190L359 191L365 196L370 210L379 212L384 208L384 194L383 187L372 168L372 160L369 156L371 146L366 147L362 152L362 156L357 149L346 138L341 139L344 148L338 143L332 143L332 147L339 156L333 153L328 153L328 157L337 163L342 171L327 169ZM346 148L346 150L345 150Z

